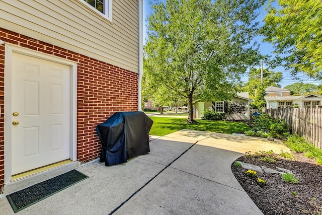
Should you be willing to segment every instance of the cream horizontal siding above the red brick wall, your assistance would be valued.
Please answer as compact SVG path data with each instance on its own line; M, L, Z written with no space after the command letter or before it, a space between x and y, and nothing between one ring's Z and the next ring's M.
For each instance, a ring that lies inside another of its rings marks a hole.
M138 73L138 1L112 1L112 22L81 1L2 0L0 27Z

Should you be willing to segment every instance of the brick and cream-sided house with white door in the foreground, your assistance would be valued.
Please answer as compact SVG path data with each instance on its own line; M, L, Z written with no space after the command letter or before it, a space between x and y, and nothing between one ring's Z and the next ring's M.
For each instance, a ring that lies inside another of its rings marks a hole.
M87 2L0 1L0 193L21 172L97 159L96 125L141 107L143 0Z

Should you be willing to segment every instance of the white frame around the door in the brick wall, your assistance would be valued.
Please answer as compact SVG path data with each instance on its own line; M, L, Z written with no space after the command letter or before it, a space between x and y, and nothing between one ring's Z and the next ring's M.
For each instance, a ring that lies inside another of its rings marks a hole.
M5 183L11 181L12 177L12 144L11 144L11 103L12 103L12 53L24 54L31 57L49 60L52 62L68 65L70 68L70 139L69 159L77 160L77 63L71 60L62 59L50 54L27 49L14 44L5 44L5 107L4 107L4 141L5 141Z

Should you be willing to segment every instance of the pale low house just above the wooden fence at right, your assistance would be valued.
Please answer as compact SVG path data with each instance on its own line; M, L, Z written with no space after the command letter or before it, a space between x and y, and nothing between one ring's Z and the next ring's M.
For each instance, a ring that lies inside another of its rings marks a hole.
M266 108L316 108L322 104L322 96L265 96Z

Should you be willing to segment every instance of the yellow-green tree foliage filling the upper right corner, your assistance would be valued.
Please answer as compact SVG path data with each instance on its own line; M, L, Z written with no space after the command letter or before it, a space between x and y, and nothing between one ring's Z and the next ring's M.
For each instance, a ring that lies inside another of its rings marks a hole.
M276 7L274 7L276 6ZM322 2L320 0L271 0L263 28L277 63L322 80Z

